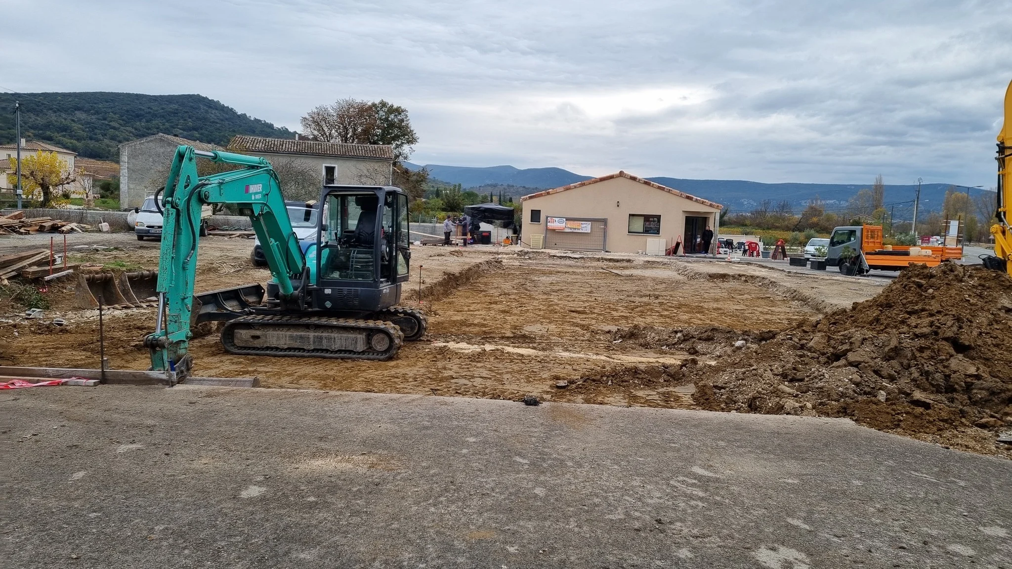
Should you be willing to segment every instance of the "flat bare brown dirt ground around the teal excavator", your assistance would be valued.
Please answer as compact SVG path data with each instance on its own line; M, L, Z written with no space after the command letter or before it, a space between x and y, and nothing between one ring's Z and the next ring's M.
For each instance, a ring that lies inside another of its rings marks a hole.
M114 243L71 258L157 268L157 243ZM267 280L267 269L250 263L252 244L203 240L197 290ZM719 367L736 341L769 340L869 300L887 283L724 261L426 246L413 249L402 304L428 313L429 332L393 360L238 356L214 333L190 349L194 375L257 377L269 388L699 408L695 380L706 375L699 367ZM51 286L46 297L54 308L36 321L19 318L23 308L0 297L0 364L97 368L97 311L74 307L73 282ZM111 367L148 368L142 339L154 312L107 312ZM67 324L54 325L57 316Z

